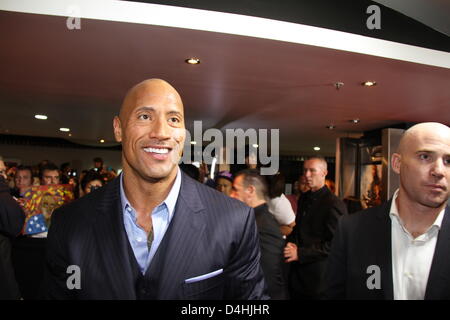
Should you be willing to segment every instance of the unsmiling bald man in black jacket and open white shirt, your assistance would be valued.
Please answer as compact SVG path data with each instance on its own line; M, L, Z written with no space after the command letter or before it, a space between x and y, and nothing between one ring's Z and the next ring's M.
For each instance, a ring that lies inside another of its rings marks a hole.
M408 129L392 155L393 198L341 219L329 256L329 299L450 299L450 128Z

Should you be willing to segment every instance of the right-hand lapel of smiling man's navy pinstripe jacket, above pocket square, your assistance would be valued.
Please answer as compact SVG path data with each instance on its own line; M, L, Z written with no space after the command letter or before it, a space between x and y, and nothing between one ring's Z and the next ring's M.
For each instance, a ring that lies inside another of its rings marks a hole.
M147 272L150 278L159 279L157 299L173 299L179 295L191 257L202 239L204 206L196 184L182 174L174 216Z

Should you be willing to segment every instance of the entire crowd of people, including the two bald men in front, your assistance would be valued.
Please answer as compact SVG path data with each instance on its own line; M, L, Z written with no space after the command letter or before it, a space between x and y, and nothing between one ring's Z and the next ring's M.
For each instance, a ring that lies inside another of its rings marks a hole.
M204 164L179 166L184 108L163 80L131 88L113 127L122 143L117 177L97 158L80 179L66 164L0 161L0 281L8 285L0 297L450 299L448 126L408 129L392 155L399 190L351 215L320 156L303 163L292 195L282 173L262 176L253 165L214 179ZM8 241L24 223L21 197L36 184L71 185L78 199L53 212L48 237L25 243L45 254L32 268L19 259L21 271L11 263L20 242L11 249ZM73 266L81 274L69 286Z

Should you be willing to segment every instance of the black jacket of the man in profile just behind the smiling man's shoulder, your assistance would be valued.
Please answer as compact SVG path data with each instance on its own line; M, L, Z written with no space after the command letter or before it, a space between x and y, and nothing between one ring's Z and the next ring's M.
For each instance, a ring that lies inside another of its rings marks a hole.
M274 300L287 300L289 296L283 272L285 241L280 225L269 212L267 204L255 208L255 218L261 248L261 267L269 295Z

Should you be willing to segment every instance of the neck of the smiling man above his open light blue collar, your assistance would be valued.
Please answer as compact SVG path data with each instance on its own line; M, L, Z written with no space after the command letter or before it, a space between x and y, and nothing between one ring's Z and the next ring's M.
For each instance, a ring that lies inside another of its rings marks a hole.
M132 170L123 173L123 189L131 206L138 215L146 215L153 211L167 198L177 176L178 168L164 179L147 181L137 176Z

